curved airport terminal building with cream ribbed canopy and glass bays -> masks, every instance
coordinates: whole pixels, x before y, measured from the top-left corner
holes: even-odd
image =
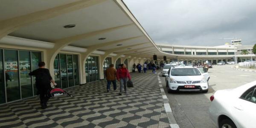
[[[122,0],[2,0],[0,104],[37,96],[29,72],[44,61],[58,87],[105,78],[110,64],[233,60],[236,47],[155,44]],[[17,6],[19,5],[19,6]],[[54,12],[54,13],[52,13]],[[251,55],[238,55],[250,58]],[[253,55],[253,59],[255,55]]]

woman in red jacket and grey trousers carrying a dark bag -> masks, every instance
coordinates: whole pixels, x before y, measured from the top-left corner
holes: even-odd
[[[125,64],[121,64],[121,68],[116,70],[116,79],[120,82],[120,92],[119,95],[122,95],[122,88],[125,87],[125,93],[127,93],[127,81],[131,80],[130,73],[126,68]]]

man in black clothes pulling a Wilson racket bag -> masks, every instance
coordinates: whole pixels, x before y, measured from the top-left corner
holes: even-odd
[[[49,97],[47,96],[47,91],[52,88],[51,82],[52,84],[57,85],[52,79],[49,70],[44,66],[44,62],[39,62],[39,68],[29,73],[29,76],[35,76],[35,86],[38,90],[37,94],[40,95],[40,103],[42,109],[47,108],[47,101],[49,100]]]

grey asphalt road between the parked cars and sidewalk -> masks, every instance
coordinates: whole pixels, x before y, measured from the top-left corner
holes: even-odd
[[[180,128],[216,128],[209,117],[209,97],[217,90],[235,88],[256,81],[256,73],[231,69],[232,65],[215,65],[208,70],[209,92],[167,93],[165,77],[160,76],[173,114]]]

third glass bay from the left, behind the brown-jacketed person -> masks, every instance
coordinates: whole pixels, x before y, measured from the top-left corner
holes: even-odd
[[[85,62],[86,82],[99,80],[99,57],[89,56]]]

